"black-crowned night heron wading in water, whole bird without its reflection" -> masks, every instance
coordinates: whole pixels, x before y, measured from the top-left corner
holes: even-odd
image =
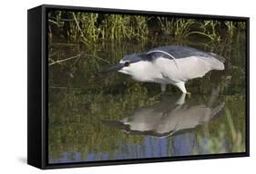
[[[187,93],[187,81],[203,77],[211,70],[224,70],[223,63],[224,58],[215,53],[172,45],[126,55],[104,73],[125,73],[138,82],[157,82],[161,84],[161,92],[166,91],[167,84],[173,84]]]

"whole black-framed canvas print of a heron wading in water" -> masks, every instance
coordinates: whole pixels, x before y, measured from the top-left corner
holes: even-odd
[[[249,156],[249,18],[28,10],[27,162]]]

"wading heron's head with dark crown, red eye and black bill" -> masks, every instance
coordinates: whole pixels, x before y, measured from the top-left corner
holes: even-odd
[[[119,72],[128,75],[138,73],[138,69],[141,63],[143,63],[143,57],[141,54],[130,54],[123,57],[118,64],[108,67],[103,73]]]

